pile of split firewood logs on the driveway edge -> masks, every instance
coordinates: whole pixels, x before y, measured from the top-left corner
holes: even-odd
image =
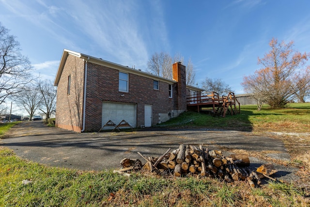
[[[245,180],[251,187],[261,184],[261,178],[270,177],[277,172],[272,164],[259,167],[256,171],[248,168],[247,155],[223,156],[221,151],[211,150],[194,145],[181,144],[178,149],[170,152],[170,148],[159,158],[146,158],[144,164],[139,159],[125,158],[121,160],[122,169],[115,172],[130,176],[131,171],[148,171],[158,175],[208,176],[225,181]],[[255,183],[254,183],[255,182]]]

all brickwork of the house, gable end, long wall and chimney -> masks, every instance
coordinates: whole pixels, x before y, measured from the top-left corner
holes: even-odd
[[[68,55],[58,84],[57,127],[78,132],[82,130],[84,67],[83,59]],[[178,64],[177,67],[179,68],[177,80],[182,81],[173,84],[173,98],[169,98],[169,83],[159,80],[159,90],[154,90],[153,80],[156,79],[142,77],[134,73],[128,73],[128,93],[119,92],[119,70],[88,62],[85,131],[98,131],[102,127],[103,101],[136,104],[137,127],[144,125],[145,104],[153,106],[153,125],[159,122],[160,113],[164,114],[175,110],[186,111],[185,66]],[[71,90],[70,95],[67,95],[69,75],[71,75]],[[183,103],[178,104],[179,101]]]

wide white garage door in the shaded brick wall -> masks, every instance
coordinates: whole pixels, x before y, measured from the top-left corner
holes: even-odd
[[[125,120],[131,127],[137,125],[136,104],[125,104],[115,102],[103,102],[102,104],[102,126],[109,120],[118,125]],[[105,129],[108,127],[105,127]],[[112,127],[110,127],[112,128]]]

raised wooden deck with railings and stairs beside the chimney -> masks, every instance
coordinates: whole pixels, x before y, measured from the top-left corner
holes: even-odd
[[[225,117],[226,113],[232,115],[240,113],[240,103],[233,92],[222,97],[217,92],[187,96],[186,104],[188,111],[208,111],[222,117]]]

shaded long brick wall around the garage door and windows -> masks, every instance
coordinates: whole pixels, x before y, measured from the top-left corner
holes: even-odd
[[[86,89],[87,131],[101,128],[103,101],[137,104],[137,127],[144,125],[144,105],[153,105],[153,125],[159,121],[159,113],[173,110],[173,100],[169,98],[169,83],[159,81],[159,90],[153,89],[153,79],[129,73],[129,90],[119,92],[119,70],[89,63]],[[121,96],[124,95],[124,96]],[[97,120],[94,122],[94,120]]]

